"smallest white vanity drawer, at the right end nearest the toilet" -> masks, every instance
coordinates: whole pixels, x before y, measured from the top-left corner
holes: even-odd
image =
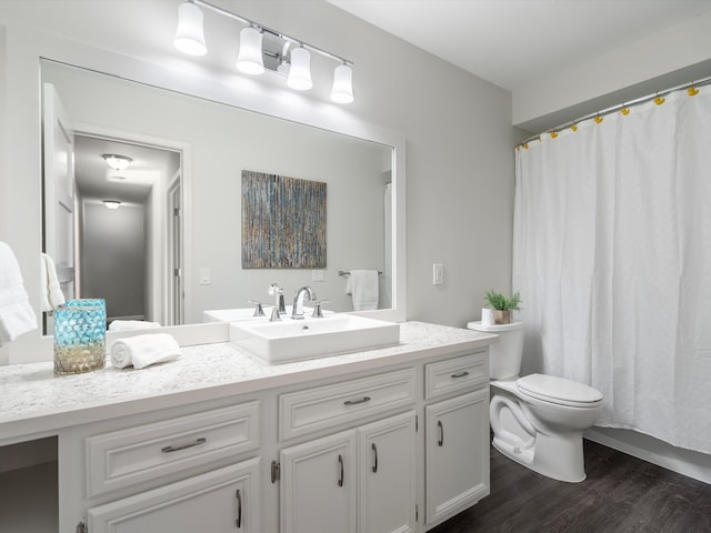
[[[428,400],[474,389],[488,382],[488,350],[430,363],[424,368],[424,394]]]

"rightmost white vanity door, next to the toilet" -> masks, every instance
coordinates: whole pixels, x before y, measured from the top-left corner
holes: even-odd
[[[425,409],[425,521],[439,523],[489,494],[489,389]]]

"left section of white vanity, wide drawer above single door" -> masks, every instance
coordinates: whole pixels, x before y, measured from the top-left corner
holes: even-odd
[[[259,420],[252,401],[77,429],[72,462],[83,459],[86,472],[73,483],[76,531],[261,533]]]

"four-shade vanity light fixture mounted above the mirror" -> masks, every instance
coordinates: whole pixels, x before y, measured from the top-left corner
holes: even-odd
[[[313,87],[311,52],[316,52],[339,63],[333,71],[331,100],[337,103],[351,103],[354,100],[352,61],[202,0],[188,0],[178,8],[178,30],[173,43],[181,52],[190,56],[204,56],[208,52],[200,7],[247,24],[240,31],[237,58],[237,68],[241,72],[261,74],[270,70],[286,74],[290,88],[307,91]],[[294,47],[289,51],[290,44]]]

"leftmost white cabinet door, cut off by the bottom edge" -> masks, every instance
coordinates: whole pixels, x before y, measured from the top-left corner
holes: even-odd
[[[91,533],[260,533],[259,459],[92,507]]]

